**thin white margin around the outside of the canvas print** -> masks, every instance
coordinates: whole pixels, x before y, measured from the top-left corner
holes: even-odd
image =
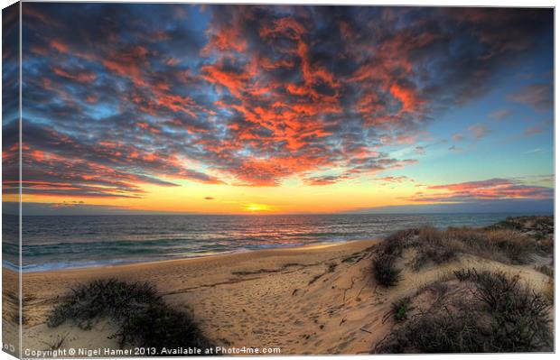
[[[59,1],[62,2],[62,1]],[[118,3],[129,3],[129,2],[135,2],[135,3],[157,3],[158,1],[113,1],[113,2],[118,2]],[[160,1],[161,2],[161,1]],[[13,0],[0,0],[0,3],[2,4],[2,8],[5,8],[8,5],[12,5],[14,4]],[[284,1],[270,1],[270,0],[261,0],[261,1],[231,1],[231,0],[221,0],[221,1],[216,1],[216,0],[208,0],[208,1],[203,1],[203,2],[190,2],[190,1],[165,1],[165,3],[217,3],[217,4],[319,4],[319,5],[327,5],[327,4],[331,4],[331,5],[442,5],[442,6],[546,6],[546,7],[550,7],[550,6],[555,6],[555,1],[543,1],[543,0],[533,0],[533,1],[527,1],[527,0],[509,0],[509,1],[496,1],[496,0],[491,0],[491,1],[481,1],[481,0],[471,0],[471,1],[455,1],[455,0],[447,0],[447,1],[441,1],[441,0],[432,0],[430,2],[426,2],[426,1],[422,1],[422,0],[406,0],[406,1],[359,1],[359,0],[350,0],[349,2],[345,2],[343,0],[339,0],[339,1],[332,1],[332,0],[322,0],[322,1],[313,1],[313,0],[307,0],[307,1],[302,1],[302,0],[284,0]],[[555,20],[556,20],[556,15],[555,15]],[[1,30],[0,30],[1,32]],[[555,49],[557,48],[558,45],[558,29],[555,26]],[[558,60],[555,57],[555,69],[558,69]],[[556,84],[556,81],[555,81]],[[0,84],[0,88],[1,88],[1,84]],[[0,98],[0,103],[1,103],[1,98]],[[558,94],[555,92],[555,104],[557,104],[558,102]],[[555,135],[558,134],[558,128],[555,126]],[[555,136],[556,138],[556,136]],[[2,137],[0,136],[0,147],[1,147],[1,142],[2,142]],[[555,165],[557,165],[557,151],[558,149],[555,148]],[[556,166],[555,166],[556,167]],[[0,175],[1,175],[1,170],[0,170]],[[557,196],[557,186],[555,183],[555,198]],[[555,207],[556,210],[556,207]],[[2,224],[2,218],[0,217],[0,226]],[[555,246],[555,257],[557,257],[558,255],[558,246]],[[0,284],[2,283],[2,280],[0,279]],[[557,289],[555,291],[555,299],[557,299]],[[558,315],[558,311],[557,308],[555,309],[555,318]],[[557,334],[555,334],[555,340],[557,340]],[[557,341],[555,342],[557,344]],[[392,358],[402,358],[402,357],[406,357],[406,356],[411,356],[411,355],[359,355],[360,357],[366,356],[366,357],[378,357],[378,356],[391,356]],[[458,360],[463,360],[463,359],[482,359],[482,358],[486,358],[486,357],[492,357],[494,359],[513,359],[513,360],[517,360],[517,359],[534,359],[536,357],[539,358],[553,358],[553,356],[555,355],[551,355],[551,354],[515,354],[515,355],[509,355],[509,354],[499,354],[499,355],[415,355],[415,357],[421,357],[421,358],[433,358],[435,357],[439,357],[439,358],[445,358],[448,356],[452,356],[453,359],[458,359]],[[303,358],[303,356],[291,356],[292,358]],[[310,356],[305,356],[305,357],[310,357]],[[328,356],[311,356],[313,358],[328,358]],[[352,357],[356,357],[356,356],[349,356],[349,355],[341,355],[341,356],[337,356],[337,358],[341,358],[341,359],[347,359],[347,358],[352,358]],[[230,358],[229,356],[226,357],[220,357],[220,358]],[[278,356],[270,356],[268,358],[278,358]],[[5,359],[14,359],[13,356],[11,355],[7,355],[4,352],[0,352],[0,360],[5,360]],[[122,359],[122,357],[121,357]]]

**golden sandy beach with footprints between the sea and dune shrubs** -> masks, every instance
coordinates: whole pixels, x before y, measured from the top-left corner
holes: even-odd
[[[23,274],[23,349],[117,348],[107,320],[90,330],[69,324],[48,328],[46,314],[72,286],[97,279],[151,282],[176,309],[190,311],[220,346],[278,347],[281,354],[366,354],[387,334],[391,302],[453,269],[471,267],[519,274],[540,289],[547,277],[532,266],[509,265],[464,254],[451,263],[404,270],[394,288],[370,276],[378,240],[259,250],[157,263]],[[403,256],[401,263],[409,262]],[[14,272],[4,270],[5,284]],[[6,288],[9,292],[9,288]],[[10,309],[5,309],[9,311]],[[5,326],[12,326],[6,324]]]

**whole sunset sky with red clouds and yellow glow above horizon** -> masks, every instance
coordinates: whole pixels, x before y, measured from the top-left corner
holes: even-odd
[[[552,9],[24,3],[23,211],[552,209],[553,51]]]

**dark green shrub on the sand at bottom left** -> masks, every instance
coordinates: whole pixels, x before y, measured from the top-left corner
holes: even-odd
[[[110,279],[79,285],[51,310],[47,325],[54,328],[70,321],[79,328],[90,329],[100,318],[117,325],[111,337],[118,339],[119,346],[211,346],[191,315],[170,308],[148,283]]]

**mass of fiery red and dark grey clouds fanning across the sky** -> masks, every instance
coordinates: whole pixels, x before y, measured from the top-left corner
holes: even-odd
[[[469,10],[462,18],[464,9],[425,8],[413,21],[404,8],[367,14],[364,7],[355,16],[340,7],[228,5],[207,7],[205,29],[183,17],[161,31],[154,24],[196,8],[155,6],[148,15],[133,6],[138,21],[113,26],[130,16],[124,7],[96,18],[97,5],[88,16],[78,5],[61,6],[68,11],[24,5],[34,10],[26,22],[33,31],[25,29],[29,57],[46,74],[26,77],[36,89],[28,108],[61,132],[37,135],[27,160],[53,183],[66,182],[57,171],[80,181],[96,180],[94,171],[109,176],[107,169],[132,177],[113,193],[134,193],[126,184],[135,177],[275,186],[295,176],[319,185],[415,163],[382,150],[407,144],[422,154],[415,134],[434,112],[483,93],[500,54],[513,59],[518,35],[546,25],[537,10]],[[49,18],[71,19],[79,31],[47,26]],[[545,107],[549,89],[509,99]],[[471,132],[481,137],[487,129]],[[76,162],[78,153],[87,162]],[[191,163],[208,173],[185,167]],[[321,175],[332,169],[340,174]],[[483,189],[528,192],[519,186]]]

